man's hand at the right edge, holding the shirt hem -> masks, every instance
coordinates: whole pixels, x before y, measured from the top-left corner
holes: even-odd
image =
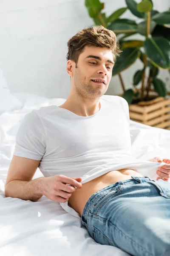
[[[167,163],[164,166],[161,166],[156,171],[157,175],[159,177],[156,178],[156,180],[162,179],[165,181],[168,181],[170,179],[170,159],[164,159],[162,157],[154,157],[153,159],[148,160],[150,162],[164,162]]]

